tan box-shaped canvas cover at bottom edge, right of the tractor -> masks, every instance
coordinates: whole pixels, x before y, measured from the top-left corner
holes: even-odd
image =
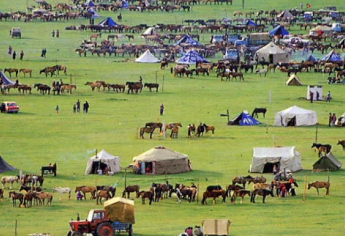
[[[229,235],[229,226],[231,222],[226,219],[206,219],[203,220],[204,235]]]

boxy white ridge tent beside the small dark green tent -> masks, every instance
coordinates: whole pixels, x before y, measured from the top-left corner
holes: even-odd
[[[278,171],[302,170],[301,154],[295,147],[253,148],[251,173],[272,173],[274,165]]]

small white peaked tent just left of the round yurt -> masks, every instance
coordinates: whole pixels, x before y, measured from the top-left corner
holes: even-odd
[[[85,174],[97,174],[97,170],[104,171],[105,167],[111,173],[120,172],[120,157],[113,156],[102,149],[87,161]]]

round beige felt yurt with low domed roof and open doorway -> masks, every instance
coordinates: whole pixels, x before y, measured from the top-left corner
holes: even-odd
[[[141,163],[141,174],[177,174],[189,172],[189,159],[172,149],[162,146],[151,148],[133,158],[133,171],[138,173],[138,163]]]

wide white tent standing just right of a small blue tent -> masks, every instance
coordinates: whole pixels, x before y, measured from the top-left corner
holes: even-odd
[[[290,121],[293,121],[291,123]],[[298,106],[293,106],[283,111],[277,112],[275,115],[274,125],[276,126],[302,126],[315,125],[317,116],[315,111],[306,110]]]

